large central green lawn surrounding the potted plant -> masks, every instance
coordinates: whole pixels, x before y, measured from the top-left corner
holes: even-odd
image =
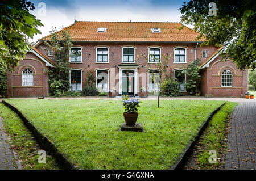
[[[146,132],[121,132],[122,101],[18,100],[32,124],[82,169],[168,169],[222,101],[143,100]]]

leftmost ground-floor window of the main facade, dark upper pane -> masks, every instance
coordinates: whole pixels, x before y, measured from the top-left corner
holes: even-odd
[[[71,91],[82,91],[82,70],[72,69],[70,71]]]

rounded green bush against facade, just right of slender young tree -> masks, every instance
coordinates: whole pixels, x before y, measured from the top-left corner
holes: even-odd
[[[164,79],[161,85],[161,96],[181,96],[180,83],[174,81],[172,78]]]

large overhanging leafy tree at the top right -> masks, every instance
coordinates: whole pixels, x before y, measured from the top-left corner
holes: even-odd
[[[210,2],[216,3],[217,11],[213,3],[209,6]],[[255,7],[253,0],[191,0],[180,8],[181,22],[192,25],[200,32],[200,37],[206,37],[203,45],[230,43],[223,55],[232,58],[237,68],[255,69]]]

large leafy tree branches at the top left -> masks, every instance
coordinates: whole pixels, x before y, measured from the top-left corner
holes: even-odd
[[[13,70],[19,60],[30,50],[27,37],[40,33],[40,20],[30,14],[33,3],[26,0],[1,0],[0,2],[0,66]]]

